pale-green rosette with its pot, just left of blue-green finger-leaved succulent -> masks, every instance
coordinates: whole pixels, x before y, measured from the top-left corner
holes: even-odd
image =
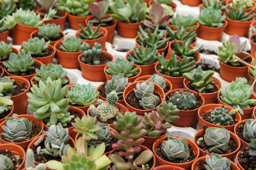
[[[76,36],[70,36],[62,42],[54,44],[58,63],[64,68],[79,68],[78,56],[83,53],[85,42]]]

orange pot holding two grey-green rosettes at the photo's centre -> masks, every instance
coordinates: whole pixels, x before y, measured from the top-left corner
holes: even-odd
[[[154,109],[148,109],[148,110],[136,109],[136,108],[132,107],[131,105],[129,105],[129,104],[127,103],[127,101],[125,100],[125,98],[127,97],[127,95],[128,95],[129,93],[131,93],[131,91],[132,91],[134,88],[136,88],[136,84],[137,84],[138,82],[150,82],[150,81],[137,81],[137,82],[132,82],[131,84],[129,84],[129,85],[124,89],[123,98],[124,98],[124,102],[125,102],[125,105],[126,105],[127,109],[128,109],[130,112],[135,111],[137,114],[141,114],[141,115],[144,115],[145,112],[156,111],[156,107],[155,107]],[[163,89],[162,89],[159,85],[157,85],[156,83],[154,83],[154,82],[151,82],[151,83],[154,84],[154,87],[155,87],[155,88],[154,88],[154,92],[156,92],[156,93],[160,96],[159,100],[161,101],[161,103],[160,103],[159,105],[157,105],[157,106],[161,106],[161,105],[163,104],[164,97],[165,97],[165,96],[164,96],[164,91],[163,91]]]

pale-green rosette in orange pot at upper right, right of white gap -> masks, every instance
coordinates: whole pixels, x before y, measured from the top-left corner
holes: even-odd
[[[198,36],[204,40],[221,40],[221,36],[227,27],[225,15],[221,15],[221,10],[215,10],[211,6],[200,12],[198,22]]]

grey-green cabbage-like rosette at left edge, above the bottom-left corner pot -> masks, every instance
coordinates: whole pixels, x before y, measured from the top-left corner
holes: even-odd
[[[28,141],[28,136],[31,134],[32,123],[26,118],[8,117],[6,125],[2,126],[4,140],[11,143],[20,143]]]

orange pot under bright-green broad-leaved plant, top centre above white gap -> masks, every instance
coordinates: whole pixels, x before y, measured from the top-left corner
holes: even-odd
[[[118,35],[125,38],[135,38],[137,32],[139,31],[139,26],[141,22],[136,23],[126,23],[126,22],[117,22]]]

